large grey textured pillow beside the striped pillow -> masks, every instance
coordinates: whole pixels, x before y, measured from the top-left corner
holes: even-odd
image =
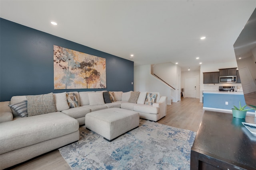
[[[56,112],[53,93],[26,96],[28,100],[28,116]]]

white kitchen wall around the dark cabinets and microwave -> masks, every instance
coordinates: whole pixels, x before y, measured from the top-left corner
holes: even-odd
[[[200,102],[202,102],[202,92],[203,91],[218,91],[219,86],[230,86],[228,83],[221,83],[221,84],[204,84],[203,83],[203,72],[217,72],[221,68],[236,68],[237,63],[236,60],[227,63],[214,63],[214,64],[203,64],[200,66]],[[240,83],[232,84],[232,86],[238,86],[238,89],[242,89]]]

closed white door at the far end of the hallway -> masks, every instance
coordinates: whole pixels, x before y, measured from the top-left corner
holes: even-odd
[[[186,98],[196,98],[196,78],[185,78],[185,96]]]

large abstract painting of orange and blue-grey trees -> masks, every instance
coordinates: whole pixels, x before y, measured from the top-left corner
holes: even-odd
[[[54,89],[106,88],[106,59],[54,45]]]

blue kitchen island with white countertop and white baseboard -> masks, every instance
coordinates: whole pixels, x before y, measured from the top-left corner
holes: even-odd
[[[243,92],[203,91],[204,110],[232,113],[231,109],[234,106],[239,107],[239,102],[241,102],[241,106],[246,105]],[[255,111],[249,110],[247,114],[255,116]]]

